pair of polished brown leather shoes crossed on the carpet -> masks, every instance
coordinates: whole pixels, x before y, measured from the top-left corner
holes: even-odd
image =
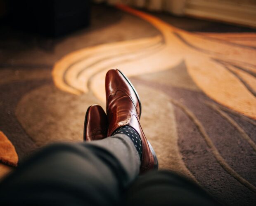
[[[109,70],[106,75],[106,110],[92,105],[85,115],[84,140],[100,140],[111,136],[121,126],[132,126],[142,141],[140,173],[158,169],[156,154],[140,126],[141,103],[137,91],[120,70]]]

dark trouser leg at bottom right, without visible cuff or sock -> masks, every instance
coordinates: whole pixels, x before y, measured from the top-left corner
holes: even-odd
[[[126,206],[220,205],[201,187],[170,171],[139,176],[124,192],[123,202]]]

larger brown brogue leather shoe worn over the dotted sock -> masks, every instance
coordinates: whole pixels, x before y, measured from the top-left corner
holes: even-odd
[[[105,83],[108,136],[121,126],[132,126],[139,133],[142,141],[140,173],[158,169],[156,154],[140,126],[141,103],[132,83],[117,69],[107,72]]]

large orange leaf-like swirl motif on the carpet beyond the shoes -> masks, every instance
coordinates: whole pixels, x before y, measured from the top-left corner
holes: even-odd
[[[185,61],[193,81],[207,96],[256,119],[256,34],[189,33],[144,12],[117,7],[151,23],[161,37],[101,44],[72,52],[55,64],[52,75],[57,87],[78,95],[91,90],[104,102],[107,70],[119,68],[131,77],[168,70]],[[248,41],[248,37],[253,38]]]

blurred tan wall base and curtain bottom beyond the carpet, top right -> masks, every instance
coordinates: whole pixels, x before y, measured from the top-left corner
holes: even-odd
[[[256,0],[94,0],[256,28]]]

